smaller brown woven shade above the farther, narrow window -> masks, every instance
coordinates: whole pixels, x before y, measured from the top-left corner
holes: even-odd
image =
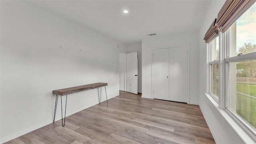
[[[214,38],[216,38],[218,36],[218,34],[219,34],[219,32],[218,32],[218,28],[216,27],[216,18],[215,18],[215,20],[212,22],[212,25],[207,30],[207,32],[204,36],[205,42],[210,43],[212,40],[214,40]]]

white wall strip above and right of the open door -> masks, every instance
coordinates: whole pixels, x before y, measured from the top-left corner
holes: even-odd
[[[142,43],[137,43],[137,44],[128,44],[127,46],[127,52],[138,52],[138,92],[141,92],[141,78],[142,78],[142,73],[141,73],[141,56],[142,56]]]

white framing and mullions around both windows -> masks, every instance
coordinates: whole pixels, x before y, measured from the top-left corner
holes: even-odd
[[[230,80],[229,64],[230,62],[241,62],[246,60],[256,60],[256,52],[242,54],[240,56],[229,57],[229,29],[224,33],[219,33],[219,60],[212,60],[212,42],[207,44],[207,93],[218,103],[219,108],[224,109],[235,122],[256,141],[256,131],[253,130],[242,118],[234,114],[229,108],[230,103]],[[219,100],[210,92],[211,74],[210,65],[219,64]]]

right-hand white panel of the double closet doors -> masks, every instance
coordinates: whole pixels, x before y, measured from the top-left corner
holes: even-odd
[[[169,100],[188,102],[187,47],[169,49]]]

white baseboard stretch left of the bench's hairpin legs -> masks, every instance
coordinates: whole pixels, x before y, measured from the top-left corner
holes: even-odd
[[[52,123],[52,120],[48,120],[47,122],[44,122],[44,123],[39,124],[37,126],[33,126],[32,128],[28,128],[28,129],[23,130],[21,132],[18,132],[16,134],[12,134],[10,136],[7,136],[6,138],[2,138],[0,140],[0,143],[2,144],[2,143],[5,143],[5,142],[8,142],[10,140],[13,140],[14,138],[18,138],[18,137],[20,137],[20,136],[22,136],[24,134],[27,134],[27,133],[32,132],[34,130],[37,130],[38,128],[42,128],[43,126],[46,126],[46,125],[51,124],[51,123]]]

